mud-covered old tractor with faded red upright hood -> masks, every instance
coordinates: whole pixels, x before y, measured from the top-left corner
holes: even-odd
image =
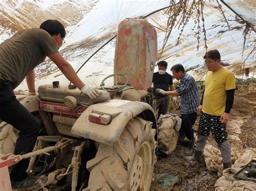
[[[113,86],[104,79],[97,98],[56,82],[39,86],[37,96],[17,96],[42,130],[33,152],[12,155],[18,132],[2,122],[0,168],[30,158],[27,172],[47,176],[38,188],[44,190],[149,190],[157,149],[170,154],[178,137],[173,117],[159,127],[147,91],[156,57],[154,27],[126,19],[118,27],[115,74],[108,76]]]

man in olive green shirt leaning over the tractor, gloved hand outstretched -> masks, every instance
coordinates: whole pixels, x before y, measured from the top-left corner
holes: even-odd
[[[46,20],[41,24],[40,29],[17,32],[0,44],[0,119],[20,131],[14,154],[25,154],[33,150],[41,126],[36,118],[17,101],[14,89],[26,77],[29,93],[36,94],[34,68],[42,63],[46,56],[82,93],[90,98],[98,96],[98,90],[93,86],[85,86],[69,62],[58,52],[65,34],[65,28],[60,22]],[[28,164],[29,160],[26,159],[12,168],[10,174],[12,186],[18,188],[24,185],[24,181],[28,183],[29,179],[26,178]]]

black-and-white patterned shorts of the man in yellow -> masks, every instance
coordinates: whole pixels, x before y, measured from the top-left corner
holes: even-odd
[[[201,112],[198,124],[198,135],[209,136],[212,132],[217,143],[227,141],[226,123],[220,123],[220,116],[209,115]]]

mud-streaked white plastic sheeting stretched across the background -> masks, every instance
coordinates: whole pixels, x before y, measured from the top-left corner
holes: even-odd
[[[227,1],[229,2],[229,1]],[[241,2],[241,1],[239,1]],[[250,1],[243,1],[242,8],[248,8],[247,12],[251,11],[253,15]],[[231,1],[235,3],[235,1]],[[102,44],[114,36],[117,32],[118,24],[125,18],[134,18],[144,16],[154,10],[164,8],[170,4],[169,1],[46,1],[46,0],[29,0],[29,1],[1,1],[0,6],[0,18],[15,19],[16,25],[20,23],[24,28],[28,28],[31,21],[31,26],[35,27],[35,23],[39,25],[46,19],[58,19],[64,22],[68,34],[65,38],[66,44],[62,47],[62,51],[65,58],[71,63],[71,65],[77,70],[89,56],[98,49]],[[32,6],[36,6],[37,9],[32,9]],[[28,7],[32,11],[37,11],[33,15],[28,13]],[[26,10],[26,11],[24,11]],[[244,37],[242,31],[245,24],[239,22],[240,20],[235,17],[234,13],[223,5],[225,16],[230,24],[231,30],[228,31],[227,24],[221,11],[218,9],[218,4],[215,1],[207,1],[204,9],[205,28],[207,35],[207,46],[210,49],[219,49],[222,60],[224,62],[239,65],[244,62],[246,55],[251,51],[252,47],[247,48],[244,56],[242,57],[242,45],[244,43]],[[7,11],[7,13],[5,13]],[[246,14],[248,14],[245,12]],[[156,26],[158,32],[158,48],[163,46],[163,40],[165,37],[166,22],[168,16],[164,11],[155,13],[147,18],[147,20],[154,26]],[[22,15],[24,14],[24,15]],[[27,14],[27,15],[26,15]],[[45,14],[45,15],[44,15]],[[27,22],[23,23],[25,19],[19,20],[19,17],[26,18]],[[255,17],[252,17],[255,18]],[[35,20],[36,19],[36,20]],[[35,21],[35,22],[34,22]],[[8,38],[14,31],[10,31],[8,27],[3,27],[3,23],[0,22],[0,42]],[[205,54],[203,35],[200,37],[200,48],[197,51],[197,27],[194,29],[194,19],[191,18],[187,26],[184,28],[183,36],[181,36],[180,44],[175,46],[177,38],[180,33],[180,29],[173,30],[171,37],[166,45],[165,52],[160,60],[166,59],[169,63],[167,72],[170,73],[172,65],[181,63],[185,68],[193,66],[203,66],[203,55]],[[250,45],[255,39],[255,33],[252,32],[249,40],[246,42],[246,46]],[[93,86],[99,86],[100,81],[105,76],[113,73],[113,58],[114,58],[114,44],[115,39],[110,44],[105,46],[99,51],[93,58],[86,63],[86,65],[78,73],[79,77],[86,83]],[[246,65],[248,67],[255,66],[255,58],[250,56]],[[47,71],[50,70],[50,73]],[[157,68],[155,68],[157,70]],[[42,63],[36,68],[37,77],[36,87],[40,84],[51,83],[52,81],[60,81],[61,84],[69,84],[65,76],[56,70],[56,66],[47,61]],[[192,70],[190,72],[196,77],[196,80],[203,79],[203,72]],[[109,81],[112,83],[112,81]],[[23,82],[18,89],[26,89],[26,83]]]

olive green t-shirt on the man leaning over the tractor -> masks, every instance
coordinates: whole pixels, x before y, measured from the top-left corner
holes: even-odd
[[[15,89],[47,55],[56,52],[58,49],[47,31],[19,31],[0,44],[0,79],[10,81]]]

